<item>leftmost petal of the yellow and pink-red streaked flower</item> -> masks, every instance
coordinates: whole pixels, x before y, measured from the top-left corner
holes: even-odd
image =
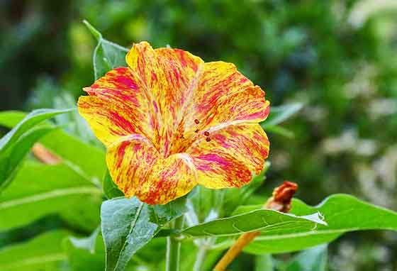
[[[156,134],[144,89],[128,68],[111,70],[84,90],[89,96],[79,98],[79,113],[106,146],[120,136]]]

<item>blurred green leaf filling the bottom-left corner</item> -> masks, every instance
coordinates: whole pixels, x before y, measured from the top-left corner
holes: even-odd
[[[1,271],[59,271],[67,255],[62,250],[62,240],[67,231],[44,233],[25,243],[0,250]]]

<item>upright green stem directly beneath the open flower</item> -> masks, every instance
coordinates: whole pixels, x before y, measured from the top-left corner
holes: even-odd
[[[176,230],[184,226],[184,216],[172,221],[171,228]],[[165,259],[165,271],[179,271],[179,253],[181,250],[181,242],[174,236],[167,237],[167,255]]]

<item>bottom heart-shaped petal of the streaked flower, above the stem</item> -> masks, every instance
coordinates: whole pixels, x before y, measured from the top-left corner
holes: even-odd
[[[113,182],[125,197],[166,204],[196,185],[196,171],[186,154],[160,157],[147,138],[126,136],[108,148],[106,162]]]

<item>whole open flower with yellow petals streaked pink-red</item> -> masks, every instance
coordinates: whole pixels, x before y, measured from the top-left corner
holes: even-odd
[[[197,184],[241,187],[262,170],[269,101],[235,65],[146,42],[125,60],[78,102],[125,197],[166,204]]]

